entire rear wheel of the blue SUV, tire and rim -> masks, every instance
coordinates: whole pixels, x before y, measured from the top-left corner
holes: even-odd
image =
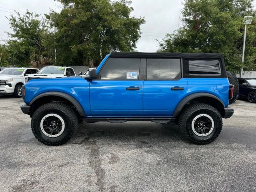
[[[185,108],[178,120],[182,135],[194,144],[214,141],[222,130],[222,118],[216,108],[208,104],[194,104]]]

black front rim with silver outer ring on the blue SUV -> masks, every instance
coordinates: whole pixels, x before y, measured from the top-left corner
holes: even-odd
[[[64,132],[65,122],[61,116],[50,113],[42,118],[40,128],[46,136],[58,137]]]

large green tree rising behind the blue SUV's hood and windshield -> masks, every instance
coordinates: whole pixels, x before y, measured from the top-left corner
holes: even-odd
[[[59,64],[97,66],[110,52],[129,52],[136,48],[140,25],[145,20],[130,16],[133,10],[130,1],[58,1],[63,4],[63,10],[46,16],[58,29],[55,43],[45,42],[45,46],[56,47]]]

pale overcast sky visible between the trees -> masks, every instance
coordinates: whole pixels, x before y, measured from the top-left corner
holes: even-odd
[[[132,0],[132,16],[144,16],[146,20],[141,26],[142,36],[137,43],[138,51],[156,52],[158,43],[155,39],[161,40],[166,33],[178,28],[182,2],[184,0]],[[54,0],[0,0],[0,42],[7,39],[5,32],[11,31],[5,16],[8,17],[14,10],[22,14],[27,9],[43,15],[50,9],[61,10],[61,4]]]

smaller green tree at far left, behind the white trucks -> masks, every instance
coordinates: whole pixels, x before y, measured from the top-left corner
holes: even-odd
[[[27,11],[24,15],[16,12],[18,16],[11,15],[7,18],[12,33],[8,33],[7,40],[8,62],[10,65],[35,67],[40,65],[41,56],[47,55],[42,46],[42,39],[48,30],[48,26],[39,15]]]

